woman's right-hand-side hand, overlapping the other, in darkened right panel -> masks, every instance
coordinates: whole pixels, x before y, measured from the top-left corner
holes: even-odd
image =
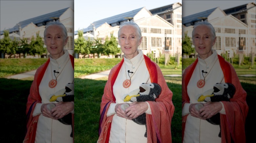
[[[200,116],[204,119],[209,119],[213,115],[219,113],[222,109],[222,104],[220,102],[207,102],[199,110]]]

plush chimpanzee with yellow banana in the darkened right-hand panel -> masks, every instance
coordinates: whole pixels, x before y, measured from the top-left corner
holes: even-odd
[[[213,86],[213,89],[209,89],[205,91],[203,94],[199,94],[197,96],[198,102],[220,102],[220,101],[229,101],[230,98],[234,96],[236,92],[236,88],[231,83],[216,83]],[[197,104],[196,109],[199,110],[203,107],[203,104]],[[213,125],[220,125],[220,113],[212,116],[209,119],[206,119],[209,123]],[[221,127],[221,125],[220,125]],[[221,137],[221,131],[219,133],[219,137]]]

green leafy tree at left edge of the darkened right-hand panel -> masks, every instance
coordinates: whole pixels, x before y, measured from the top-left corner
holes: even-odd
[[[185,32],[185,37],[182,38],[182,56],[183,55],[191,55],[195,52],[195,49],[192,48],[192,42],[190,37],[187,36],[187,32]]]

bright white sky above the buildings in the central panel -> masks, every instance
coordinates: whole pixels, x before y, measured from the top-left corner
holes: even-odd
[[[148,10],[170,5],[181,0],[75,0],[75,31],[91,23],[145,7]]]

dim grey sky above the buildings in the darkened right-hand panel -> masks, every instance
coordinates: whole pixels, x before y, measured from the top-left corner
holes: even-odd
[[[228,9],[254,2],[255,0],[182,0],[182,17],[220,7]]]

